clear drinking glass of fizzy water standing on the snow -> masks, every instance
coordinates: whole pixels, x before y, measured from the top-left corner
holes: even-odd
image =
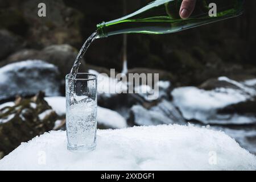
[[[66,76],[66,130],[68,150],[86,152],[96,148],[97,76],[77,73]]]

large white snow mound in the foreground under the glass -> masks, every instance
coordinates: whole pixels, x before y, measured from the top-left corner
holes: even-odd
[[[255,170],[256,157],[228,135],[203,127],[160,125],[98,130],[96,150],[67,150],[65,131],[22,143],[0,170]]]

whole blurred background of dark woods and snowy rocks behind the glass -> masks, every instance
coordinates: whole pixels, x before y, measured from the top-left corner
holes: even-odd
[[[38,16],[40,2],[46,17]],[[148,2],[0,0],[0,159],[20,142],[65,130],[64,78],[82,44],[96,24]],[[98,127],[191,123],[224,131],[256,154],[255,11],[247,0],[238,18],[175,34],[131,34],[127,42],[123,35],[96,40],[80,72],[160,76],[155,101],[99,95]]]

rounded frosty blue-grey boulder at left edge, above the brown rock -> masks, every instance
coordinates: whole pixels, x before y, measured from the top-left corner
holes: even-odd
[[[27,60],[0,68],[0,100],[31,96],[40,90],[47,96],[60,95],[59,71],[41,60]]]

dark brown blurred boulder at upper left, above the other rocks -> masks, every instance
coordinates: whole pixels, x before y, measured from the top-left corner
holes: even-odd
[[[46,17],[39,17],[38,4],[44,2]],[[14,6],[15,7],[15,6]],[[82,44],[80,24],[83,15],[80,11],[67,7],[62,0],[24,1],[18,7],[28,24],[26,39],[32,47],[46,47],[52,44]]]

